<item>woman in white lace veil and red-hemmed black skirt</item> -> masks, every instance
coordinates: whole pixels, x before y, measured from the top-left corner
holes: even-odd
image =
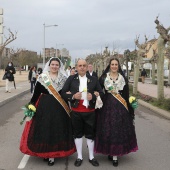
[[[39,75],[30,101],[36,113],[26,122],[20,142],[21,152],[42,157],[49,166],[54,165],[54,158],[75,152],[70,110],[60,96],[67,79],[61,64],[51,58]]]

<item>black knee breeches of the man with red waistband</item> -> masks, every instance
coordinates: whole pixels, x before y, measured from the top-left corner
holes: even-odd
[[[95,112],[71,112],[71,121],[73,126],[74,138],[82,138],[85,136],[88,139],[94,139],[96,116]]]

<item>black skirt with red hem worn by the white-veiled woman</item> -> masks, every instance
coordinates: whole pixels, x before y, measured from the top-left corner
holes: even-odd
[[[75,152],[71,119],[52,95],[42,95],[33,119],[26,123],[20,150],[44,158]]]

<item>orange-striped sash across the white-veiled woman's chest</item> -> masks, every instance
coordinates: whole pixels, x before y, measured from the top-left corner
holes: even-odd
[[[57,99],[57,101],[63,106],[63,108],[65,109],[65,111],[70,117],[70,112],[71,112],[70,108],[68,107],[66,102],[61,98],[60,94],[55,90],[55,88],[53,87],[53,85],[51,84],[49,80],[49,77],[44,73],[42,73],[41,76],[47,88],[50,90],[52,95]]]

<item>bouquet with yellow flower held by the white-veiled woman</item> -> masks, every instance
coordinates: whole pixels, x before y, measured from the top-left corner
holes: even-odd
[[[22,107],[22,109],[24,110],[24,118],[22,119],[22,121],[20,122],[20,125],[22,125],[25,121],[25,119],[27,117],[29,117],[30,119],[32,119],[32,117],[34,116],[35,112],[36,112],[36,108],[34,105],[32,104],[26,104],[24,107]]]

